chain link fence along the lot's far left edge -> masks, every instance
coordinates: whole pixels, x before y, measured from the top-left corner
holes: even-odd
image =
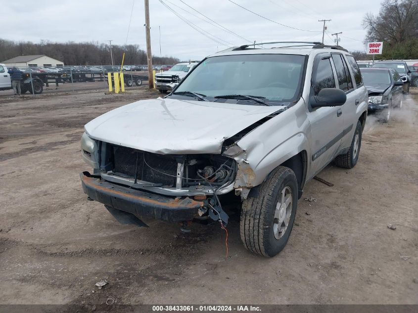
[[[157,68],[157,70],[161,70]],[[79,93],[108,90],[107,73],[124,74],[125,87],[145,88],[146,65],[13,66],[0,64],[0,97],[43,93]],[[20,90],[19,90],[20,89]],[[20,92],[19,92],[20,91]]]

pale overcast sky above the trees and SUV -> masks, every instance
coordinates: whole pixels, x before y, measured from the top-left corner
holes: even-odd
[[[331,34],[342,32],[340,45],[364,50],[362,19],[366,12],[377,13],[380,1],[149,0],[152,53],[159,54],[159,26],[162,55],[198,60],[228,46],[253,41],[322,41],[319,19],[332,20],[327,22],[325,44],[333,44],[335,36]],[[0,38],[33,42],[113,40],[114,44],[145,48],[143,0],[19,0],[4,1],[1,7]]]

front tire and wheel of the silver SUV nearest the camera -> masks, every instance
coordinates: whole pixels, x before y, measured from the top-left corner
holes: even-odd
[[[279,166],[259,188],[256,196],[242,203],[241,240],[249,251],[274,257],[286,245],[295,220],[296,176],[291,169]]]

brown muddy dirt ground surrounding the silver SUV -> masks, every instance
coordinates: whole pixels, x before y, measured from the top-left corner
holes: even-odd
[[[271,259],[245,250],[238,216],[226,259],[218,223],[186,235],[177,224],[121,225],[87,200],[84,124],[156,96],[0,99],[0,303],[418,303],[418,89],[388,124],[369,116],[357,166],[320,173],[333,187],[308,183],[290,240]]]

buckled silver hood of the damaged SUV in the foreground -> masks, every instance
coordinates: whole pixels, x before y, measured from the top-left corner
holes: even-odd
[[[282,108],[157,98],[107,112],[85,130],[94,139],[148,152],[221,153],[225,139]]]

